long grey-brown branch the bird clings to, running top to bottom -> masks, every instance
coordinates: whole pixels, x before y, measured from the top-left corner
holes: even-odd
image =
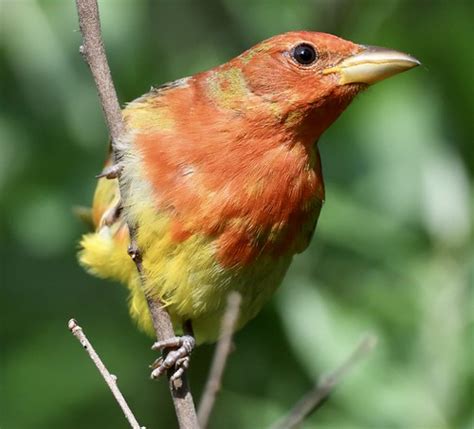
[[[82,33],[83,44],[80,52],[86,63],[91,69],[92,76],[97,87],[102,109],[104,111],[105,120],[109,129],[112,140],[112,154],[116,165],[119,165],[122,159],[122,152],[119,143],[124,136],[125,126],[122,120],[122,113],[117,99],[117,94],[110,74],[105,49],[102,42],[100,30],[100,18],[97,0],[75,0],[77,12],[79,16],[79,27]],[[120,170],[118,170],[120,171]],[[118,177],[120,195],[126,200],[127,187]],[[124,198],[125,197],[125,198]],[[135,231],[137,225],[128,225],[130,230],[131,252],[137,265],[140,278],[145,280],[145,274],[141,269],[140,251],[136,246]],[[150,315],[155,328],[158,340],[166,339],[174,336],[173,326],[166,310],[162,308],[160,303],[148,300]],[[197,428],[197,416],[194,407],[193,398],[187,378],[183,376],[177,380],[180,385],[170,384],[171,396],[173,398],[176,416],[181,428]]]

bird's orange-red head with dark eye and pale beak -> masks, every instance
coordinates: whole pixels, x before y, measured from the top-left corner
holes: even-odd
[[[291,32],[221,66],[218,94],[227,106],[267,109],[280,123],[316,139],[361,90],[419,64],[402,52],[331,34]]]

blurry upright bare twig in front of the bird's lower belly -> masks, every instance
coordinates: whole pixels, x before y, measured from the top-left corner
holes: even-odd
[[[211,370],[207,378],[206,387],[202,394],[198,409],[198,420],[201,429],[205,429],[209,422],[217,393],[221,388],[222,375],[232,346],[232,334],[239,318],[240,302],[242,297],[238,292],[231,292],[227,298],[227,308],[222,318],[221,334],[216,346]]]

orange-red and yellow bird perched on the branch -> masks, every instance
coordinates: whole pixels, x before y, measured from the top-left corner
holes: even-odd
[[[94,230],[78,258],[128,287],[142,330],[154,332],[147,300],[168,311],[182,335],[155,344],[169,354],[152,377],[182,373],[196,344],[217,340],[231,291],[242,299],[236,330],[257,315],[316,229],[321,135],[370,85],[418,65],[399,51],[294,31],[124,107],[123,156],[99,175]]]

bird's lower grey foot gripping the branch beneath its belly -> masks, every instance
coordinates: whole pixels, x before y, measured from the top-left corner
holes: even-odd
[[[151,347],[152,350],[161,350],[163,356],[159,357],[151,368],[151,378],[156,379],[169,369],[175,371],[170,377],[171,381],[179,379],[189,368],[191,352],[196,345],[196,340],[192,335],[183,335],[181,337],[172,337],[163,341],[158,341]]]

